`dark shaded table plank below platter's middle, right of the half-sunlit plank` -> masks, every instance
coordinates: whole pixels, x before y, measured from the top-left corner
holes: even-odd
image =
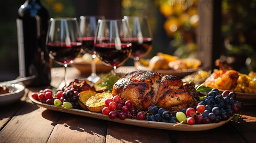
[[[106,143],[170,143],[166,130],[108,123]]]

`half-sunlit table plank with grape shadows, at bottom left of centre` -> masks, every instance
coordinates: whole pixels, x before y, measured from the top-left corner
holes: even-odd
[[[62,113],[48,143],[104,143],[107,121]]]

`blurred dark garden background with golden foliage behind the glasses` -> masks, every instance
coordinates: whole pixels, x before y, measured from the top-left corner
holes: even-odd
[[[25,0],[1,2],[0,81],[13,80],[19,75],[16,18],[17,10],[24,2]],[[154,42],[153,49],[144,58],[151,58],[157,52],[182,58],[198,57],[197,40],[198,28],[200,28],[198,23],[200,20],[209,20],[200,17],[199,13],[204,12],[200,6],[206,4],[201,5],[201,2],[198,0],[41,0],[50,17],[148,16]],[[256,71],[256,0],[222,0],[220,7],[221,9],[216,9],[218,6],[212,8],[221,14],[217,17],[221,33],[217,38],[221,43],[217,46],[218,52],[214,52],[213,49],[212,54],[239,72],[247,74],[251,70]],[[128,60],[125,65],[133,65],[133,60]],[[58,65],[53,64],[53,66]]]

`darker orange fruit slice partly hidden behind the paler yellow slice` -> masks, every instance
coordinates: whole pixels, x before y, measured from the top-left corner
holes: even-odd
[[[93,95],[97,94],[97,92],[93,90],[87,90],[87,91],[82,91],[78,94],[78,103],[79,105],[84,109],[89,111],[89,109],[85,106],[86,101],[92,97]]]

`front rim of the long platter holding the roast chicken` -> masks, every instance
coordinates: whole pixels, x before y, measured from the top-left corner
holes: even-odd
[[[89,112],[79,109],[67,109],[67,108],[61,108],[54,105],[48,105],[45,103],[41,103],[38,100],[35,100],[29,95],[30,100],[32,102],[36,103],[40,107],[44,107],[49,110],[54,110],[58,112],[64,112],[64,113],[70,113],[70,114],[76,114],[80,116],[86,116],[86,117],[93,117],[101,120],[108,120],[112,122],[117,123],[123,123],[133,126],[142,126],[146,128],[155,128],[155,129],[167,129],[167,130],[175,130],[175,131],[205,131],[209,129],[218,128],[220,126],[223,126],[224,124],[228,123],[232,117],[230,117],[228,120],[221,121],[220,123],[208,123],[208,124],[200,124],[200,125],[188,125],[188,124],[180,124],[178,126],[175,126],[175,123],[163,123],[163,122],[153,122],[153,121],[145,121],[145,120],[135,120],[135,119],[125,119],[120,120],[119,118],[116,118],[114,120],[111,120],[108,118],[108,116],[102,114],[102,113],[96,113],[96,112]]]

